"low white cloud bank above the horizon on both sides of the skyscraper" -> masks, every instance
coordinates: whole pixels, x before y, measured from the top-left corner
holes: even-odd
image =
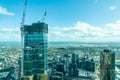
[[[19,28],[0,28],[0,41],[20,41]],[[49,26],[49,41],[120,41],[120,20],[104,27],[78,21],[73,26]]]

